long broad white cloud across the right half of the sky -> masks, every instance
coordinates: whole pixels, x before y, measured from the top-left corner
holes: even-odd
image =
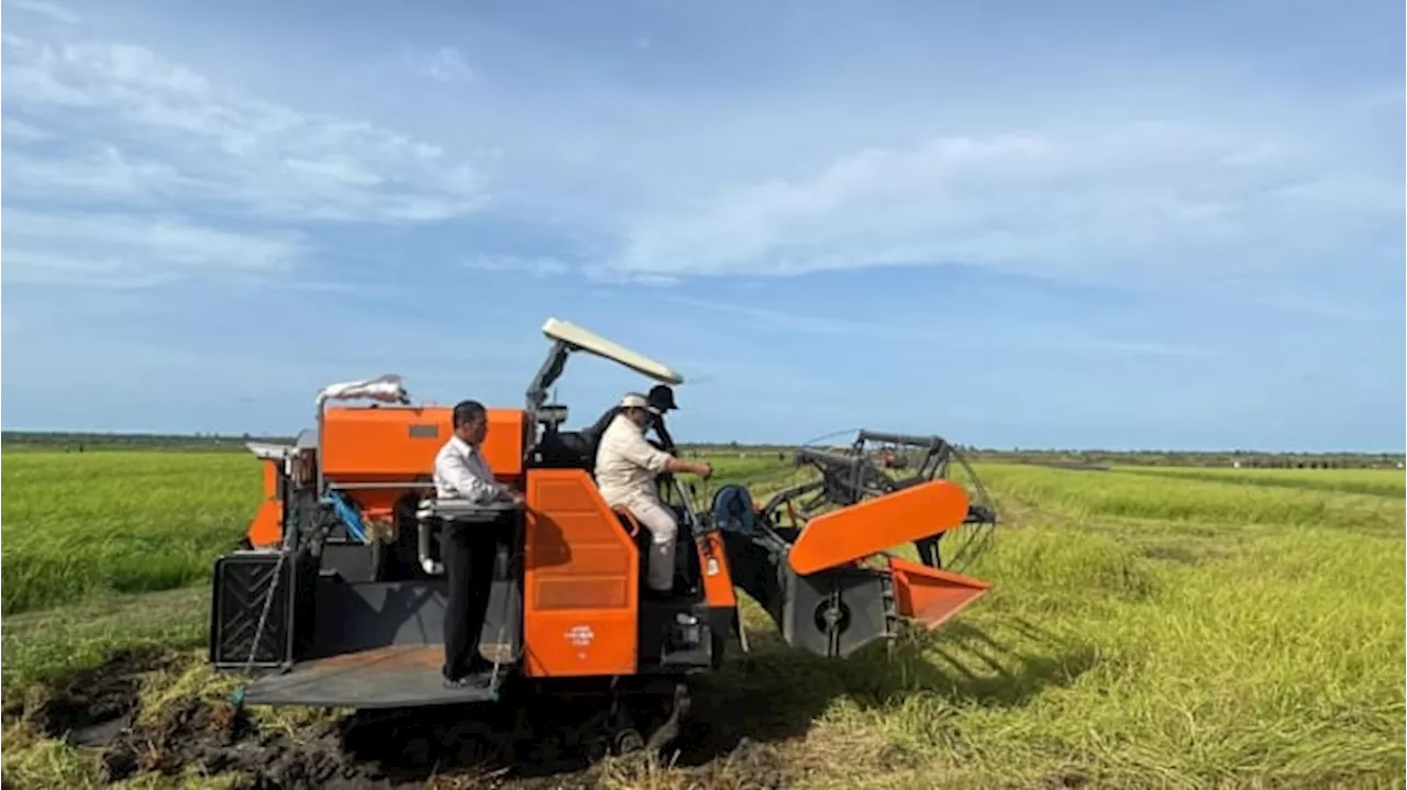
[[[1269,135],[1130,124],[844,156],[630,221],[609,268],[787,276],[960,263],[1090,280],[1318,266],[1407,191]]]

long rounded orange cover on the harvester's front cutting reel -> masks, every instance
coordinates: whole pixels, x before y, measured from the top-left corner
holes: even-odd
[[[967,491],[946,479],[865,499],[812,519],[791,550],[798,574],[862,559],[893,545],[936,536],[968,514]]]

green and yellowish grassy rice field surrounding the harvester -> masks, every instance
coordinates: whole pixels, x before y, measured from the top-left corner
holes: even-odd
[[[775,461],[716,461],[777,488]],[[736,725],[792,786],[1382,786],[1407,776],[1407,472],[982,465],[995,590],[931,634],[832,662],[747,609]],[[0,786],[73,787],[93,758],[23,700],[131,644],[191,651],[212,558],[259,498],[239,454],[0,455]],[[163,696],[165,694],[165,696]],[[633,770],[633,772],[632,772]],[[145,776],[145,775],[144,775]],[[715,766],[604,786],[741,787]],[[155,777],[144,782],[158,786]],[[692,783],[692,784],[691,784]],[[145,784],[144,784],[145,786]]]

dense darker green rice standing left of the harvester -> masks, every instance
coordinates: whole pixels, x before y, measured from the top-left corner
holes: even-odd
[[[210,576],[259,506],[241,454],[0,455],[0,614]]]

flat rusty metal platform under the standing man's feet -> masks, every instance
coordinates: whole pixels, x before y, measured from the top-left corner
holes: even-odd
[[[446,689],[440,675],[445,648],[402,645],[369,649],[298,663],[272,673],[245,690],[245,701],[266,706],[391,708],[485,701],[484,685]]]

